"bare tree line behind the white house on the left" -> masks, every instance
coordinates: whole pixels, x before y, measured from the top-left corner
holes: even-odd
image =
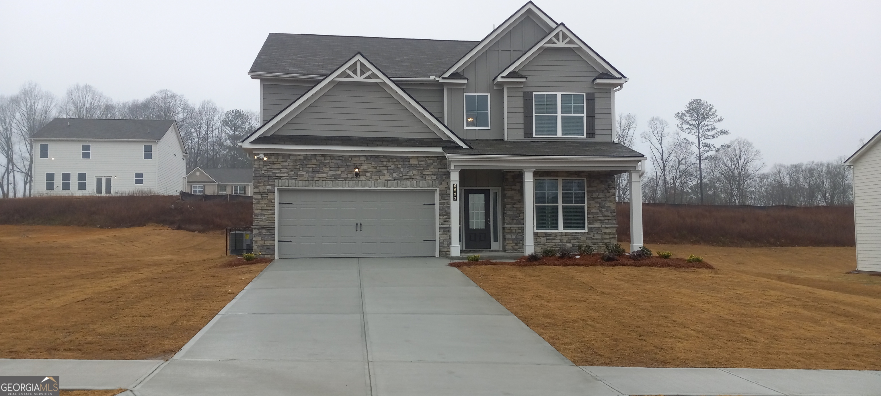
[[[73,84],[59,98],[29,82],[0,95],[0,194],[33,194],[33,145],[28,140],[56,117],[174,120],[186,146],[187,168],[248,168],[238,142],[259,126],[253,111],[224,111],[211,100],[192,103],[180,93],[159,90],[144,99],[116,101],[89,84]]]

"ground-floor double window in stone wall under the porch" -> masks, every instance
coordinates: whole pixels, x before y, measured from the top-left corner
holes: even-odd
[[[585,231],[584,179],[536,179],[536,230]]]

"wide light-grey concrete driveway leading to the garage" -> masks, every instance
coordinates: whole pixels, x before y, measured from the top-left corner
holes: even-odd
[[[137,395],[618,395],[442,259],[275,260]]]

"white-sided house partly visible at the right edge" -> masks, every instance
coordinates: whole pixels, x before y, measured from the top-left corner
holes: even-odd
[[[844,165],[854,171],[856,269],[881,272],[881,131]]]

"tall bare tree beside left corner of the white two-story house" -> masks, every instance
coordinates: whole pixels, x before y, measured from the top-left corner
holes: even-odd
[[[29,139],[56,116],[56,105],[55,95],[43,91],[33,81],[24,84],[12,100],[16,111],[13,125],[25,147],[19,172],[22,173],[23,192],[28,195],[33,194],[33,144]]]

